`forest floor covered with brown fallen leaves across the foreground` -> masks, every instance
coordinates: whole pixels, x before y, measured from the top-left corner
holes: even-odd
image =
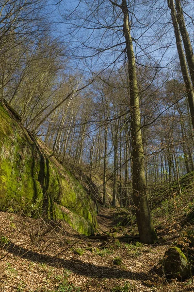
[[[162,271],[165,251],[180,237],[175,221],[158,219],[160,243],[146,245],[115,239],[137,233],[119,226],[125,216],[124,209],[101,208],[98,230],[110,237],[102,241],[62,221],[0,212],[0,292],[194,291],[191,278],[167,281]]]

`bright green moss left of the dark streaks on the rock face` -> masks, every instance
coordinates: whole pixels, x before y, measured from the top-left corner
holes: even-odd
[[[34,201],[35,193],[41,197],[41,186],[34,175],[38,165],[32,164],[32,150],[20,134],[14,129],[1,144],[0,209],[3,211],[12,208],[17,212],[26,206],[25,212]]]

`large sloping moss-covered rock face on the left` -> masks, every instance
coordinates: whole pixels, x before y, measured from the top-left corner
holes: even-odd
[[[0,104],[0,211],[65,219],[90,235],[96,203],[81,184]]]

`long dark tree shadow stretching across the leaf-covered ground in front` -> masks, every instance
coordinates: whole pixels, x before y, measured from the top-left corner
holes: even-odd
[[[129,272],[120,270],[118,268],[106,267],[106,266],[97,266],[91,263],[84,263],[81,260],[69,260],[63,259],[57,256],[48,256],[44,254],[39,254],[37,252],[29,251],[24,249],[14,243],[10,243],[9,246],[6,247],[6,251],[14,254],[15,256],[20,256],[21,258],[28,259],[33,262],[45,263],[49,266],[60,265],[65,269],[71,270],[76,274],[80,274],[82,276],[93,277],[93,278],[124,278],[124,279],[136,279],[141,280],[142,283],[151,277],[149,272],[147,273],[138,273],[138,272]]]

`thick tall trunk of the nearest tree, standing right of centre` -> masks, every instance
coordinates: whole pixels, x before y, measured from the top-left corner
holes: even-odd
[[[140,240],[149,244],[157,240],[157,235],[154,229],[147,200],[144,150],[141,136],[139,92],[137,86],[135,56],[133,52],[132,38],[130,35],[127,0],[122,0],[121,9],[124,16],[123,30],[129,63],[133,200],[136,206],[136,218]]]

